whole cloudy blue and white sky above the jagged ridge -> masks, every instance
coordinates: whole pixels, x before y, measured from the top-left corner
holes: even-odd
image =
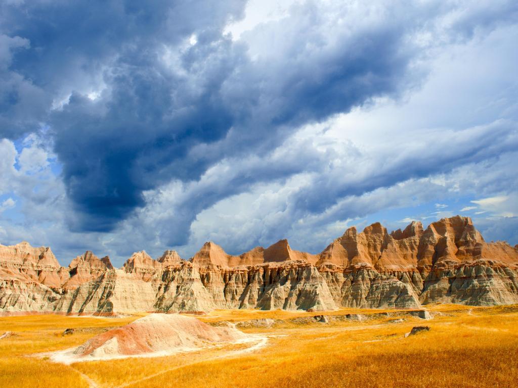
[[[0,243],[189,258],[469,216],[518,244],[515,1],[5,0]]]

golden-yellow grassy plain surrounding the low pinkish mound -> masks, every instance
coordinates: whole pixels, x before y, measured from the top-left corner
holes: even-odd
[[[53,363],[35,356],[83,344],[127,318],[57,315],[0,318],[0,386],[8,387],[510,387],[518,380],[518,306],[430,307],[431,320],[406,311],[341,309],[328,323],[311,312],[217,310],[210,324],[273,318],[241,330],[266,345],[229,345],[165,357]],[[319,312],[318,314],[322,314]],[[362,314],[362,321],[340,319]],[[355,317],[355,316],[353,316]],[[405,338],[413,326],[430,331]],[[63,336],[67,328],[75,329]]]

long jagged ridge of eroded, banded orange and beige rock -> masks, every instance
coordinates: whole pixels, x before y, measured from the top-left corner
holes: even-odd
[[[319,255],[286,240],[228,255],[208,242],[190,260],[136,252],[122,268],[87,251],[63,267],[50,248],[0,245],[0,313],[115,315],[213,309],[419,308],[518,303],[518,247],[486,243],[470,218],[392,233],[349,228]],[[119,340],[118,340],[119,341]]]

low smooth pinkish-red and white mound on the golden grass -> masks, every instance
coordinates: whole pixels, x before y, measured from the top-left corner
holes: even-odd
[[[54,352],[50,357],[53,361],[69,364],[128,356],[160,356],[249,340],[251,336],[234,327],[213,327],[196,318],[177,314],[151,314],[99,334],[78,348]]]

